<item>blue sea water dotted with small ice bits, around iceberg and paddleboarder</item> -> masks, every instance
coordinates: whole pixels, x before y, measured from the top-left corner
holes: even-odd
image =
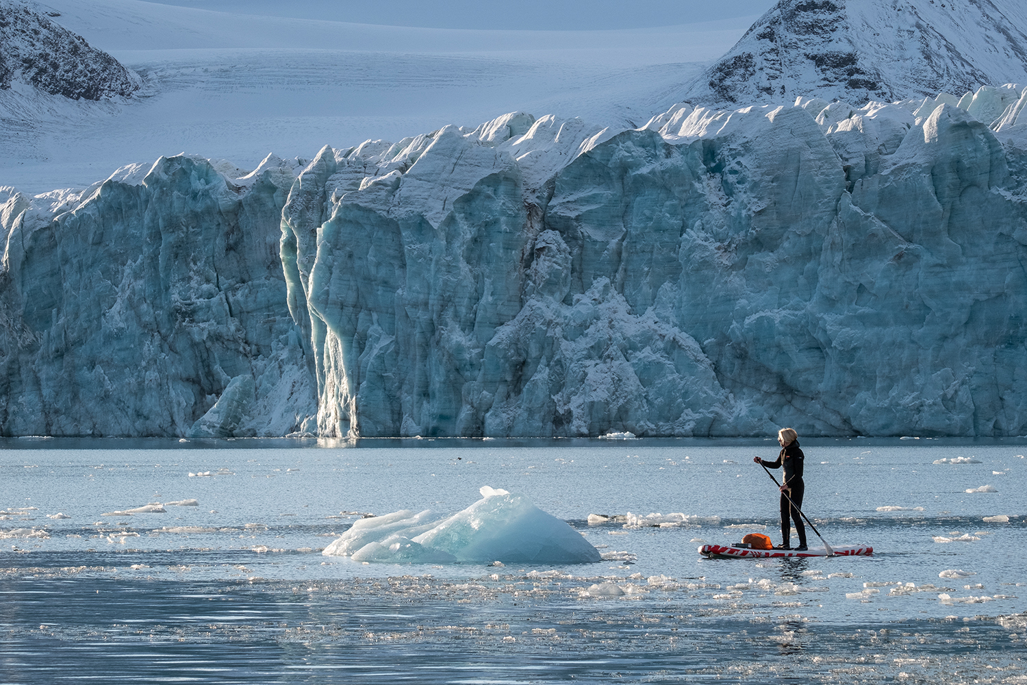
[[[696,548],[777,541],[752,463],[772,440],[0,447],[2,683],[1027,682],[1023,440],[803,441],[803,509],[875,554],[759,562]],[[486,485],[604,561],[320,554],[362,516],[452,513]]]

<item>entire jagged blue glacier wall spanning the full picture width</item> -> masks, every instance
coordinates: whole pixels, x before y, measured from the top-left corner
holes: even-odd
[[[514,113],[9,194],[0,425],[1023,434],[1022,96]]]

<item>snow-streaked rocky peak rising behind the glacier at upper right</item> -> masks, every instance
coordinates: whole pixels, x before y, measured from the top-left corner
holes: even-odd
[[[961,96],[1027,81],[1025,32],[1019,0],[781,0],[679,98],[724,106]]]

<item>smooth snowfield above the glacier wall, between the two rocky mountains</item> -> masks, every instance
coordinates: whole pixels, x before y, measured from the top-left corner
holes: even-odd
[[[303,5],[304,3],[294,3]],[[254,168],[268,153],[397,140],[514,110],[638,125],[752,17],[606,31],[369,26],[174,7],[49,0],[40,8],[143,75],[128,104],[0,102],[0,185],[84,188],[180,152]],[[676,20],[680,22],[681,20]]]

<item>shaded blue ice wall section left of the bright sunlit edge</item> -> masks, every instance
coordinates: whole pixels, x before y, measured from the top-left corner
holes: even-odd
[[[82,193],[0,196],[3,433],[312,429],[278,257],[292,180],[268,167],[234,185],[180,156]]]

